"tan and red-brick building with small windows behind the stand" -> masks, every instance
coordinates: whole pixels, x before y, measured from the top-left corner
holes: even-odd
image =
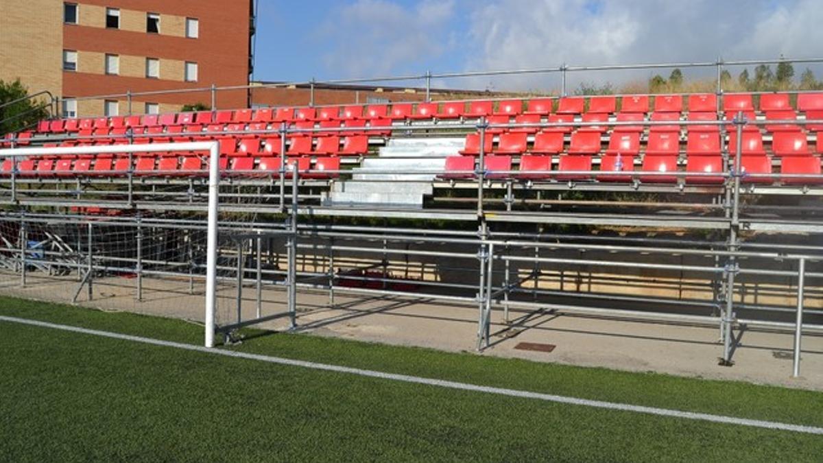
[[[248,85],[252,36],[252,0],[0,0],[0,79],[59,96],[64,117],[177,111],[212,92],[139,93]]]

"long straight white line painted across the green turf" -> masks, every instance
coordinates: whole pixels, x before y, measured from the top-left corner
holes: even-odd
[[[421,376],[399,375],[396,373],[375,372],[374,370],[364,370],[360,368],[341,367],[338,365],[328,365],[326,363],[306,362],[304,360],[294,360],[291,358],[271,357],[268,355],[260,355],[257,353],[243,353],[230,350],[221,350],[217,348],[207,348],[193,344],[175,343],[172,341],[164,341],[160,339],[144,338],[142,336],[132,336],[129,334],[112,333],[109,331],[89,330],[87,328],[80,328],[70,325],[58,325],[39,320],[28,320],[24,318],[17,318],[12,316],[0,316],[0,321],[7,321],[10,323],[20,323],[23,325],[40,326],[43,328],[52,328],[54,330],[72,331],[81,334],[93,334],[95,336],[103,336],[105,338],[123,339],[142,344],[152,344],[156,346],[164,346],[170,348],[180,348],[199,353],[208,353],[212,355],[222,355],[226,357],[245,358],[249,360],[258,360],[260,362],[277,363],[280,365],[289,365],[291,367],[304,367],[313,370],[323,370],[326,372],[347,373],[357,376],[368,376],[380,378],[390,381],[402,381],[414,384],[424,384],[426,386],[438,386],[449,389],[458,389],[461,391],[475,391],[486,392],[487,394],[508,395],[511,397],[522,397],[524,399],[545,400],[547,402],[556,402],[559,404],[569,405],[583,405],[586,407],[594,407],[597,409],[623,410],[635,412],[640,414],[653,414],[658,416],[667,416],[681,419],[695,419],[699,421],[709,421],[712,423],[736,424],[738,426],[749,426],[752,428],[775,429],[780,431],[792,431],[794,433],[807,433],[823,435],[823,428],[815,426],[804,426],[800,424],[778,423],[774,421],[763,421],[760,419],[745,419],[735,418],[732,416],[723,416],[718,414],[704,414],[696,412],[686,412],[673,409],[660,409],[657,407],[644,407],[642,405],[620,404],[616,402],[606,402],[602,400],[578,399],[576,397],[568,397],[565,395],[543,394],[540,392],[518,391],[515,389],[506,389],[503,387],[491,386],[477,386],[474,384],[467,384],[464,382],[444,381],[438,379],[425,378]]]

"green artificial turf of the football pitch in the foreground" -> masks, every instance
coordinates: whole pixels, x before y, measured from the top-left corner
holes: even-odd
[[[202,343],[202,327],[0,298],[0,315]],[[823,395],[249,331],[244,352],[823,426]],[[823,437],[286,367],[0,322],[0,460],[820,461]]]

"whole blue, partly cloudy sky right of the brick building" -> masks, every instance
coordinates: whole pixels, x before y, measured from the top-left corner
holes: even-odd
[[[308,82],[563,63],[815,58],[823,54],[816,47],[821,24],[821,0],[258,0],[253,78]],[[806,67],[796,64],[796,77]],[[576,72],[569,86],[645,80],[654,72],[669,71]],[[714,72],[684,69],[686,77]],[[556,73],[433,85],[537,90],[559,82]]]

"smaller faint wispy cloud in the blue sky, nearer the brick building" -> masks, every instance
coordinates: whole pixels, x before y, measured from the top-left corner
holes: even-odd
[[[323,63],[332,75],[372,77],[424,68],[450,46],[454,0],[402,7],[388,0],[358,0],[339,8],[320,28],[331,45]]]

